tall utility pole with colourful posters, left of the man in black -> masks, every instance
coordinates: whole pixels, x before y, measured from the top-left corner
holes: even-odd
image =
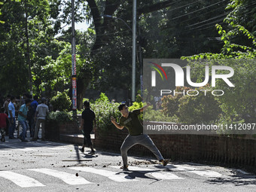
[[[72,0],[72,110],[73,117],[77,117],[77,68],[75,61],[75,0]]]

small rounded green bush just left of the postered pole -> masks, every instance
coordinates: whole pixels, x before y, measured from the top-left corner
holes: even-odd
[[[53,111],[68,111],[72,104],[71,99],[66,92],[58,92],[56,96],[50,99],[51,105],[53,105]]]

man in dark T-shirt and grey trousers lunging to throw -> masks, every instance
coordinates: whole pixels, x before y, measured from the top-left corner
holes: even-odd
[[[163,164],[163,166],[166,166],[167,163],[169,163],[169,159],[163,159],[162,154],[157,149],[156,145],[154,145],[154,142],[151,140],[151,138],[148,135],[143,134],[143,126],[139,121],[138,115],[141,114],[146,108],[148,108],[149,105],[150,103],[145,105],[143,108],[129,111],[129,108],[126,106],[126,104],[121,104],[118,107],[120,113],[122,114],[119,123],[117,123],[116,120],[111,117],[111,122],[114,124],[114,126],[117,127],[117,129],[123,130],[123,127],[125,126],[129,131],[129,135],[126,137],[126,139],[124,139],[120,148],[123,159],[123,166],[120,167],[120,169],[128,168],[127,151],[136,144],[140,144],[148,148],[157,157],[157,160]]]

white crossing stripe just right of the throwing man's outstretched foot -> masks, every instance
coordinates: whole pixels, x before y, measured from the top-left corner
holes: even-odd
[[[186,172],[193,172],[194,174],[203,176],[203,177],[214,177],[214,178],[218,178],[221,177],[221,173],[215,172],[215,171],[210,171],[210,170],[202,170],[202,169],[198,169],[195,167],[190,167],[190,166],[181,166],[181,165],[168,165],[166,166],[166,168],[168,169],[172,169],[174,171],[186,171]]]

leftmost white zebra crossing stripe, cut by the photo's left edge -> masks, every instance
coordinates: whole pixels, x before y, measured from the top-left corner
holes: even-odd
[[[0,171],[0,177],[6,178],[20,187],[44,187],[44,184],[41,184],[39,181],[36,181],[34,178],[30,178],[26,175],[20,175],[16,172],[10,171]]]

